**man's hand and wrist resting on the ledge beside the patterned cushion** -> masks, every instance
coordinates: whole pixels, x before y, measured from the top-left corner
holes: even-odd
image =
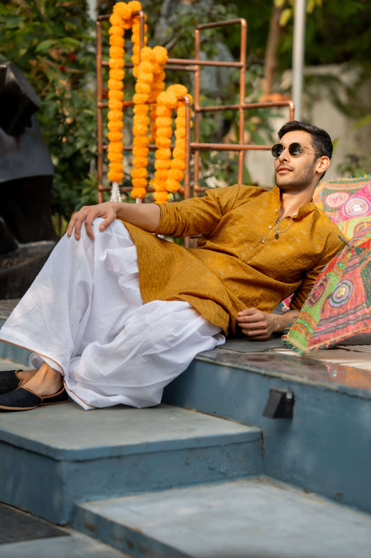
[[[283,314],[266,314],[257,308],[245,308],[238,312],[236,322],[242,333],[251,339],[268,339],[272,333],[283,333],[297,317],[297,310],[287,310]]]

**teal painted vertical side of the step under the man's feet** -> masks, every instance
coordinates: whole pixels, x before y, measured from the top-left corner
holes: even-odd
[[[253,438],[232,436],[228,442],[221,436],[219,445],[195,441],[191,448],[168,442],[162,451],[148,444],[146,453],[96,459],[83,452],[81,460],[55,460],[0,442],[0,501],[66,525],[79,502],[262,474],[260,435]]]

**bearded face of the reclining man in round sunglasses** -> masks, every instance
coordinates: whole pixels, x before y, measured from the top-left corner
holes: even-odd
[[[303,146],[297,156],[290,155],[288,146],[298,142]],[[315,186],[319,179],[317,154],[312,144],[312,136],[303,130],[287,132],[280,143],[285,147],[280,156],[274,159],[276,185],[283,191],[301,192]],[[308,148],[308,149],[306,149]]]

